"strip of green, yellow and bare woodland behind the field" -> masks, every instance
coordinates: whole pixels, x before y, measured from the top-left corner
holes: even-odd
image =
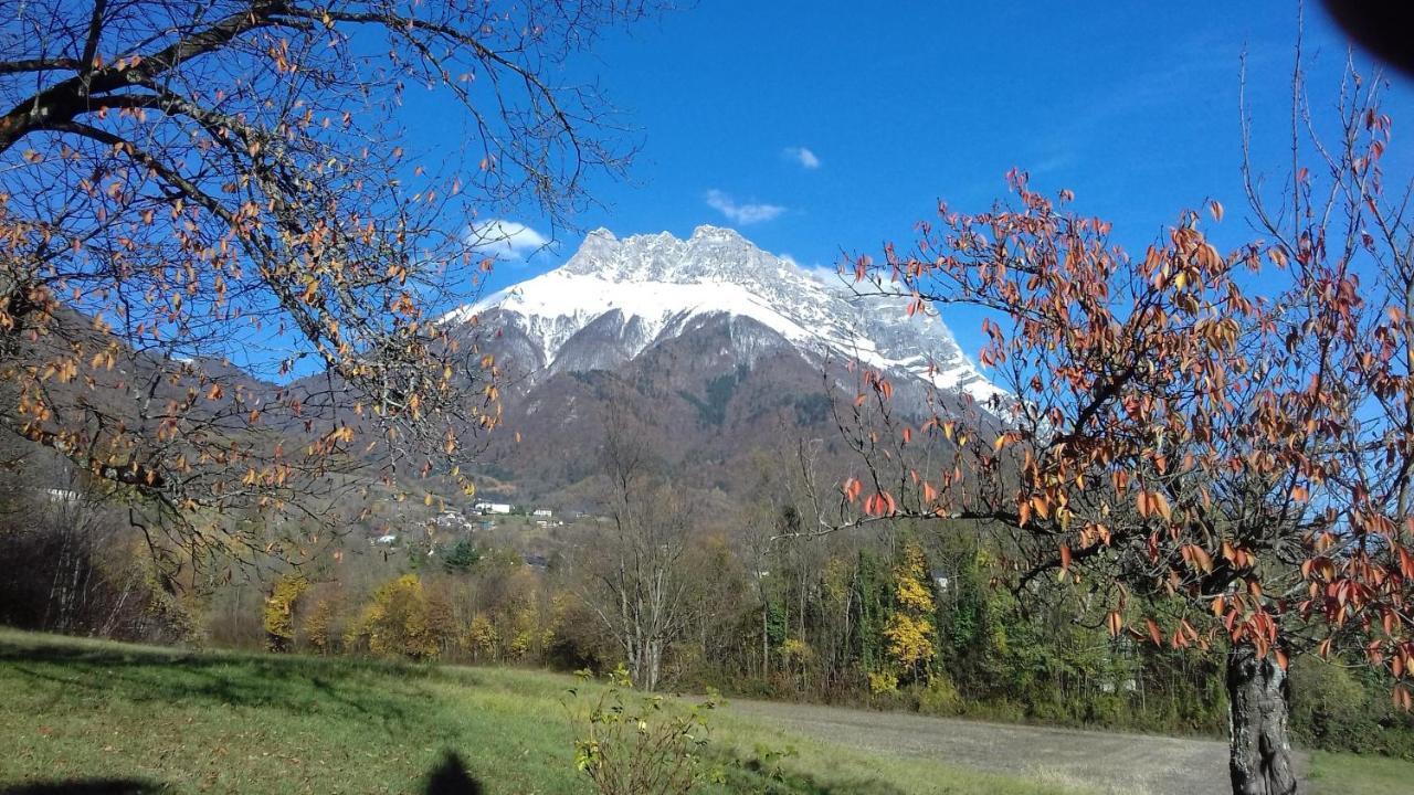
[[[608,515],[556,529],[546,563],[526,562],[529,522],[508,532],[419,533],[393,547],[349,535],[310,564],[264,579],[239,569],[226,579],[208,566],[178,596],[161,587],[140,536],[112,506],[79,491],[35,499],[34,489],[11,488],[0,497],[0,559],[17,574],[0,584],[0,621],[209,648],[563,672],[642,661],[638,680],[665,692],[711,687],[978,720],[1226,733],[1222,644],[1174,649],[1114,638],[1099,604],[1053,580],[1015,593],[1001,584],[1005,550],[973,522],[901,519],[800,538],[809,505],[779,497],[799,484],[772,480],[789,468],[782,461],[761,454],[758,463],[762,491],[735,511],[679,515],[658,525],[666,530],[629,538],[607,501]],[[645,540],[672,549],[652,556]],[[645,576],[608,577],[624,560]],[[670,591],[659,610],[612,615],[625,594],[648,604],[652,581]],[[1179,615],[1179,605],[1169,613]],[[635,637],[635,620],[659,627],[656,635]],[[1172,624],[1159,631],[1171,634]],[[649,672],[653,645],[660,671]],[[1305,747],[1414,760],[1414,717],[1391,704],[1387,675],[1304,656],[1291,678],[1291,730]]]

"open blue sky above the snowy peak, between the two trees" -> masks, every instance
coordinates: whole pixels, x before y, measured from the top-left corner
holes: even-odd
[[[1309,6],[1321,108],[1346,44]],[[1277,1],[703,0],[608,35],[561,75],[601,83],[642,143],[629,180],[600,181],[604,207],[575,222],[621,236],[727,225],[803,265],[833,265],[841,250],[911,240],[939,198],[986,209],[1015,166],[1036,188],[1075,191],[1076,208],[1111,219],[1131,249],[1208,198],[1227,207],[1219,238],[1236,243],[1247,232],[1239,57],[1257,160],[1281,178],[1295,35],[1295,6]],[[1414,124],[1414,91],[1390,81],[1390,166],[1407,171],[1411,150],[1397,143]],[[557,266],[580,239],[508,219],[560,242],[502,263],[493,287]],[[976,318],[945,320],[974,354]]]

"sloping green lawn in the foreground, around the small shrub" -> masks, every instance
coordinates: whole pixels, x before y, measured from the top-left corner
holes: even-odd
[[[185,652],[0,629],[0,792],[133,781],[143,792],[421,792],[455,753],[488,794],[587,794],[551,673]],[[1044,782],[871,758],[720,713],[738,791],[1041,795]]]

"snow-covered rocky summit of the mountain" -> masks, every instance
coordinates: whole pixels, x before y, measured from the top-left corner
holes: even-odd
[[[699,226],[686,240],[666,232],[621,240],[595,229],[561,267],[454,310],[443,323],[496,313],[495,323],[529,341],[536,366],[578,371],[602,368],[605,358],[635,358],[684,334],[694,320],[740,317],[816,359],[858,359],[977,400],[1001,392],[939,318],[908,318],[902,308],[901,298],[860,297],[827,284],[732,229]],[[592,361],[584,361],[585,345],[568,345],[581,332],[595,335]],[[561,361],[570,351],[573,361]]]

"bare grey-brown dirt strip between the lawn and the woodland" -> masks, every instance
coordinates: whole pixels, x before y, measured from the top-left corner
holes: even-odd
[[[742,714],[829,743],[1021,774],[1104,795],[1230,792],[1227,747],[1213,740],[945,720],[916,714],[732,700]],[[1305,767],[1305,760],[1298,760]]]

